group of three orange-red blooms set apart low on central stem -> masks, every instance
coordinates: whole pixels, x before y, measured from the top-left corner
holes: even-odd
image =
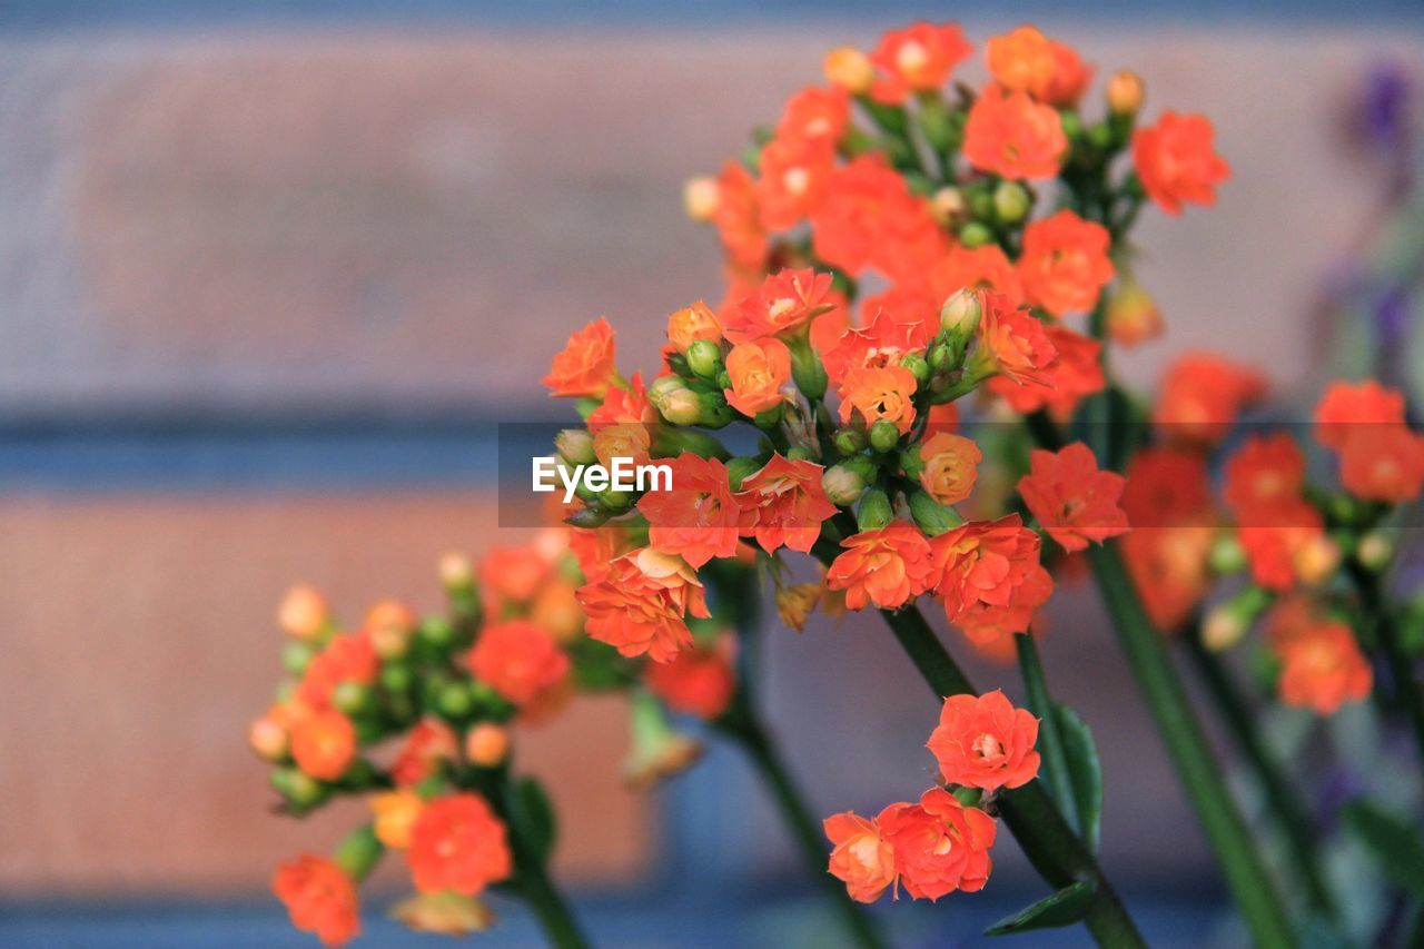
[[[950,695],[927,745],[948,789],[930,788],[917,802],[891,804],[874,818],[853,811],[826,818],[832,876],[863,903],[891,888],[896,896],[904,888],[913,899],[930,901],[984,889],[998,826],[980,792],[1032,781],[1037,740],[1038,720],[1004,693]]]

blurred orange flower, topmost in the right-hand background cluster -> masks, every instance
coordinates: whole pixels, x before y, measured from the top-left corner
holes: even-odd
[[[1208,352],[1189,352],[1166,370],[1152,420],[1171,442],[1210,446],[1226,436],[1242,408],[1266,395],[1250,366]]]

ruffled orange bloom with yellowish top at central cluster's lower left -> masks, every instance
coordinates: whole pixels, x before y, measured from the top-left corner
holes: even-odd
[[[651,547],[614,560],[604,580],[578,590],[578,601],[590,638],[655,663],[692,645],[686,616],[709,616],[696,571],[682,557]]]

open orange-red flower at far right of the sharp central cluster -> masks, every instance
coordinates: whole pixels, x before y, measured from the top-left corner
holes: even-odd
[[[1125,484],[1121,474],[1099,472],[1092,449],[1074,442],[1057,453],[1034,449],[1018,493],[1064,550],[1087,550],[1089,541],[1128,533],[1128,516],[1118,504]]]

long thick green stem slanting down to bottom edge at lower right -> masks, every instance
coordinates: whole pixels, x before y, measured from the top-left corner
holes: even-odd
[[[1172,668],[1162,636],[1142,607],[1118,547],[1111,543],[1089,547],[1088,560],[1122,653],[1256,945],[1296,945],[1249,828],[1226,792],[1202,725]]]

